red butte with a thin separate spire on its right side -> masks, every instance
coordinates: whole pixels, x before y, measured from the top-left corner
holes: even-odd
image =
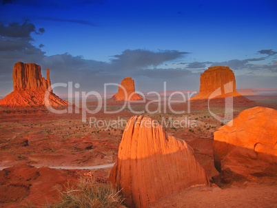
[[[52,92],[49,69],[47,80],[45,80],[41,76],[40,65],[18,62],[14,64],[12,80],[14,91],[0,100],[1,106],[28,107],[49,104],[58,107],[68,105],[67,101],[63,101]],[[49,103],[45,103],[45,92],[49,95]]]

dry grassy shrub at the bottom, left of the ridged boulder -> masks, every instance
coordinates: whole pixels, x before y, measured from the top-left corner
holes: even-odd
[[[57,190],[61,195],[61,200],[48,205],[48,208],[100,208],[100,207],[121,207],[123,204],[123,196],[121,190],[116,191],[109,183],[94,183],[92,176],[81,176],[74,184],[58,186]]]

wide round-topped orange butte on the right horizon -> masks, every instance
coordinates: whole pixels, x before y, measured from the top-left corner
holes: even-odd
[[[227,96],[243,97],[236,92],[236,79],[234,72],[227,66],[213,66],[209,67],[201,74],[200,92],[191,98],[191,100],[225,98]]]

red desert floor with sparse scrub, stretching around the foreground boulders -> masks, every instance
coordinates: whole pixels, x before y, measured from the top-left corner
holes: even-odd
[[[262,102],[263,98],[256,98]],[[276,97],[260,105],[277,109]],[[152,110],[156,105],[150,106]],[[163,106],[162,106],[163,107]],[[91,108],[94,108],[93,102]],[[120,106],[112,103],[107,110]],[[136,105],[135,110],[145,109]],[[186,110],[181,104],[176,110]],[[248,106],[234,107],[236,117]],[[223,116],[224,107],[212,111]],[[55,185],[76,180],[81,174],[92,173],[94,180],[107,183],[110,167],[83,169],[116,162],[117,151],[125,123],[134,114],[127,108],[117,114],[88,115],[52,114],[43,108],[0,108],[0,207],[32,207],[51,204],[59,198]],[[213,160],[213,134],[222,125],[207,107],[193,106],[191,112],[143,114],[163,126],[167,134],[183,139],[195,152],[196,160],[205,169],[212,186],[192,187],[164,196],[150,207],[277,207],[277,180],[254,178],[254,182],[222,184],[216,180],[218,171]],[[110,125],[92,121],[114,121]],[[121,120],[123,119],[123,120]],[[121,122],[122,121],[122,122]],[[187,121],[185,127],[172,127],[170,122]],[[189,123],[189,122],[196,122]],[[115,125],[116,123],[116,125]],[[183,123],[184,124],[184,123]],[[51,168],[56,167],[56,168]],[[70,167],[70,169],[57,169]],[[76,168],[76,169],[74,169]]]

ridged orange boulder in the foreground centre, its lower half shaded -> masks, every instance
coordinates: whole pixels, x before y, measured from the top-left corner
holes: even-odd
[[[143,116],[127,122],[110,181],[122,189],[128,207],[147,207],[167,194],[209,184],[192,147]]]

